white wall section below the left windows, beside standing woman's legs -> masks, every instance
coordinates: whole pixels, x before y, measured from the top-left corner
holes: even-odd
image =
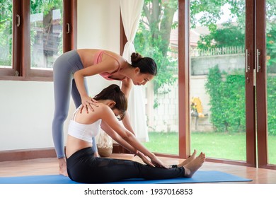
[[[0,151],[52,146],[52,83],[0,81]]]

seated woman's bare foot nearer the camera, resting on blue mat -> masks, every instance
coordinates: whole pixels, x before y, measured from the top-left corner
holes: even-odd
[[[195,158],[190,163],[184,165],[185,168],[185,175],[184,177],[192,177],[194,173],[202,166],[202,164],[205,162],[205,153],[200,153],[197,158]]]

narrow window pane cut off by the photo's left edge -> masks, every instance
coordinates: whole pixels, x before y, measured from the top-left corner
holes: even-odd
[[[12,57],[12,0],[0,1],[0,67],[11,68]]]

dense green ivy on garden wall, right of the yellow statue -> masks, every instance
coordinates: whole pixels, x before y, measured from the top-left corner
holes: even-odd
[[[217,65],[209,69],[205,88],[217,132],[244,132],[246,128],[244,76],[237,74],[222,74]]]

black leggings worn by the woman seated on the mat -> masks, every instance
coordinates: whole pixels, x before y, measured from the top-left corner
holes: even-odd
[[[130,178],[161,180],[183,177],[185,170],[178,168],[155,168],[142,163],[113,158],[95,158],[93,149],[83,148],[67,158],[67,172],[71,180],[81,183],[115,182]]]

